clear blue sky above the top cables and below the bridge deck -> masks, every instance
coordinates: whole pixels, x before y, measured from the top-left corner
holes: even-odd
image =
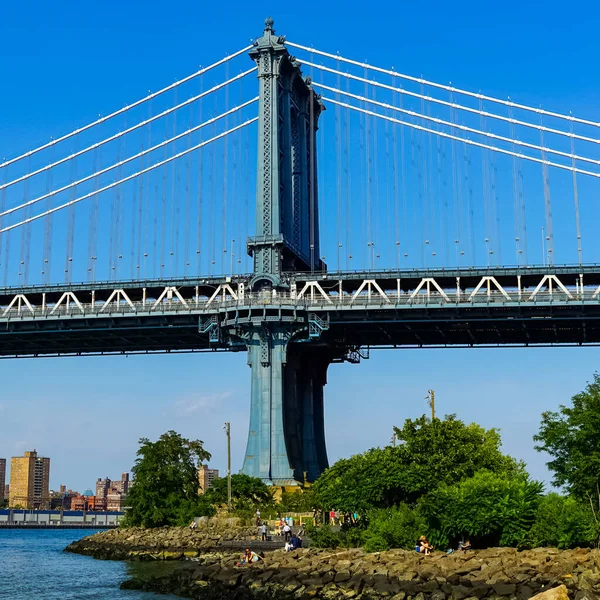
[[[290,3],[172,6],[3,6],[0,155],[69,131],[237,50],[261,33],[267,15],[278,33],[299,43],[598,116],[594,2],[323,2],[315,13]],[[386,443],[393,424],[426,410],[433,387],[439,412],[499,427],[505,450],[548,480],[531,439],[540,413],[582,389],[599,356],[595,348],[407,350],[373,352],[360,366],[334,365],[326,388],[330,458]],[[203,439],[212,464],[223,468],[226,420],[234,468],[241,467],[249,369],[240,355],[0,361],[0,382],[0,456],[37,448],[52,459],[52,487],[81,491],[98,477],[118,477],[131,467],[140,436],[170,428]]]

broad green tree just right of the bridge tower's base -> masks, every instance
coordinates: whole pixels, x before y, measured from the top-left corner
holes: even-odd
[[[454,415],[407,419],[395,433],[395,448],[374,448],[326,470],[313,487],[319,505],[364,516],[373,508],[414,504],[439,484],[462,481],[481,469],[524,472],[501,452],[496,429],[466,425]]]

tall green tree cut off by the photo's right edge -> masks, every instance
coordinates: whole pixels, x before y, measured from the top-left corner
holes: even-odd
[[[553,483],[590,504],[597,514],[600,502],[600,375],[573,396],[571,406],[542,414],[536,450],[547,452]]]

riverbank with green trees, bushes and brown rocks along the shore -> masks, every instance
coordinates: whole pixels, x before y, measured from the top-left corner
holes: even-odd
[[[542,414],[535,448],[550,456],[561,493],[546,493],[504,454],[498,430],[432,414],[407,419],[390,445],[337,461],[297,494],[276,500],[262,481],[232,476],[226,514],[238,521],[214,518],[227,505],[225,479],[198,493],[198,465],[210,458],[203,442],[169,431],[140,440],[124,527],[68,551],[180,561],[162,578],[124,585],[193,598],[527,600],[564,584],[562,600],[596,600],[599,415],[598,374],[569,406]],[[259,524],[307,511],[318,525],[306,527],[309,548],[234,567]],[[185,527],[198,517],[197,529]],[[415,552],[422,539],[436,549],[430,556]],[[457,550],[465,544],[472,550]]]

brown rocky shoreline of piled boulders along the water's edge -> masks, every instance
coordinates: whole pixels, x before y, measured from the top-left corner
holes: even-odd
[[[181,559],[166,575],[130,580],[123,587],[205,600],[527,600],[561,585],[572,600],[596,600],[600,594],[598,550],[493,548],[428,557],[404,550],[275,550],[243,567],[235,566],[239,552],[205,550],[232,536],[243,541],[242,529],[104,532],[68,550],[105,559]],[[249,531],[254,535],[255,528]],[[566,594],[562,598],[567,600]]]

